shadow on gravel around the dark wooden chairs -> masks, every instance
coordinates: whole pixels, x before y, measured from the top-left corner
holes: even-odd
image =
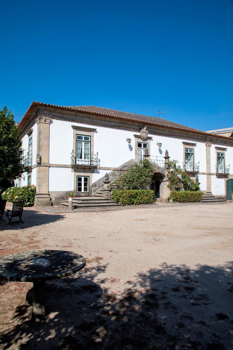
[[[53,223],[64,219],[63,215],[60,214],[45,214],[36,209],[25,209],[23,210],[22,223],[13,223],[13,225],[8,225],[9,221],[7,216],[4,214],[3,219],[5,222],[0,221],[0,230],[24,230],[29,227],[41,226],[49,223]],[[12,222],[19,220],[18,217],[12,218]]]

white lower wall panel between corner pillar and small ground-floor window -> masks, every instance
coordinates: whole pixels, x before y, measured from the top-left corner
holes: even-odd
[[[74,173],[71,168],[49,168],[49,191],[73,191]]]

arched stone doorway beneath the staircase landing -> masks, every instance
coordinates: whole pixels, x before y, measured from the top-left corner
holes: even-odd
[[[154,173],[152,181],[151,189],[154,191],[155,201],[167,203],[170,195],[167,176],[162,173]]]

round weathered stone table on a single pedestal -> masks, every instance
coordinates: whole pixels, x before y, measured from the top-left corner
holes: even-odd
[[[86,265],[82,255],[64,250],[36,250],[0,258],[0,276],[8,281],[33,282],[31,318],[45,314],[45,282],[70,276]]]

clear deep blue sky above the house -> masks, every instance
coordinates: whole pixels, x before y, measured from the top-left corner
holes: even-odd
[[[16,121],[35,100],[233,126],[232,0],[3,0],[0,12],[0,108]]]

